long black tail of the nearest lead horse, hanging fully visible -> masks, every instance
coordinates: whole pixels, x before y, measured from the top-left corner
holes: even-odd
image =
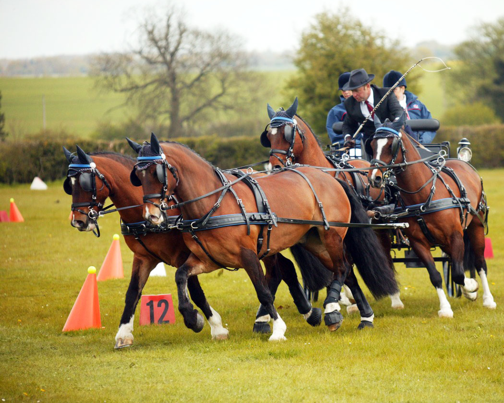
[[[347,183],[337,180],[350,201],[352,209],[350,222],[369,224],[366,211],[355,192]],[[348,228],[344,243],[374,298],[379,299],[399,291],[394,267],[371,228]]]

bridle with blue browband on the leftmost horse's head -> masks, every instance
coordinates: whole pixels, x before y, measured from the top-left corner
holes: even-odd
[[[81,203],[72,203],[71,210],[72,211],[77,211],[85,216],[88,216],[88,218],[93,222],[95,225],[96,231],[93,230],[93,234],[96,237],[100,237],[100,228],[98,226],[98,217],[101,215],[101,211],[96,211],[94,208],[96,207],[97,209],[100,210],[105,210],[113,205],[110,205],[103,209],[103,204],[99,203],[97,201],[97,192],[98,190],[102,190],[104,186],[108,188],[109,191],[109,196],[112,193],[112,189],[110,185],[108,184],[107,180],[105,179],[105,176],[103,176],[100,171],[96,168],[96,164],[94,162],[90,162],[88,164],[70,164],[68,166],[68,173],[67,173],[67,179],[65,179],[65,182],[63,183],[63,188],[65,189],[65,192],[67,194],[72,195],[72,186],[70,185],[70,178],[73,176],[76,176],[80,174],[79,176],[79,184],[81,185],[82,189],[87,192],[92,192],[92,198],[91,201],[83,201]],[[102,186],[100,189],[96,188],[96,177],[99,177],[102,181]],[[81,210],[81,208],[88,208],[88,212],[85,212],[84,210]]]

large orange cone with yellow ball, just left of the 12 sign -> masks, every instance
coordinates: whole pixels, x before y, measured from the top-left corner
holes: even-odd
[[[89,266],[88,273],[62,331],[101,328],[96,267]]]

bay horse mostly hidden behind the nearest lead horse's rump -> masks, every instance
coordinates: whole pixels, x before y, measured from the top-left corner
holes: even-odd
[[[270,119],[269,129],[261,135],[261,144],[270,148],[270,163],[273,167],[287,166],[289,164],[312,165],[333,169],[335,164],[333,160],[322,150],[322,145],[318,137],[314,134],[311,127],[297,113],[297,97],[292,105],[287,109],[275,110],[268,104],[267,111]],[[367,168],[369,162],[362,159],[349,159],[346,161],[348,167]],[[383,204],[385,192],[383,188],[374,188],[369,186],[366,174],[360,172],[329,171],[329,173],[339,179],[344,180],[353,189],[360,193],[360,198],[364,207],[372,208],[374,205]],[[390,255],[391,238],[388,231],[377,230],[376,236],[380,239],[387,256],[391,270],[394,263]],[[361,244],[362,247],[366,245]],[[301,258],[299,258],[301,260]],[[304,265],[303,265],[304,266]],[[300,267],[302,267],[300,265]],[[301,268],[302,270],[302,268]],[[309,276],[303,276],[309,279]],[[325,284],[313,284],[312,288],[321,289]],[[352,291],[352,290],[350,290]],[[392,308],[403,309],[404,304],[401,301],[399,291],[390,296]],[[352,309],[353,308],[353,309]],[[355,310],[355,306],[349,306],[348,312]]]

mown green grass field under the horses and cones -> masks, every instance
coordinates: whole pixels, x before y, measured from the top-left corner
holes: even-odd
[[[450,299],[453,319],[437,317],[438,298],[425,269],[398,265],[405,309],[369,301],[375,328],[357,330],[358,315],[344,311],[342,327],[311,328],[297,313],[287,287],[276,306],[287,341],[269,343],[251,332],[258,306],[241,270],[200,276],[230,339],[210,340],[176,323],[138,325],[134,347],[114,351],[114,336],[131,274],[132,253],[121,239],[125,277],[98,284],[102,329],[62,333],[86,278],[101,265],[119,231],[117,215],[100,219],[102,237],[79,233],[68,222],[71,198],[61,182],[35,192],[0,186],[25,223],[2,223],[0,242],[0,398],[6,401],[503,401],[504,170],[483,171],[495,258],[488,260],[496,310]],[[152,278],[144,294],[172,293],[173,270]],[[367,290],[366,290],[367,293]],[[367,293],[368,294],[368,293]],[[322,305],[322,301],[317,303]],[[137,312],[138,313],[138,312]],[[43,389],[43,390],[42,390]]]

